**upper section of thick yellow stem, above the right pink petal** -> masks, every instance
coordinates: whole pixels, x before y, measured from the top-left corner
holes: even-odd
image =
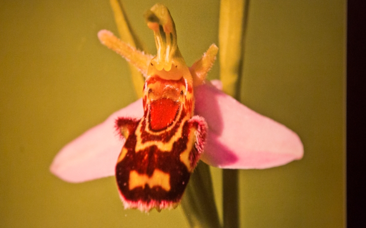
[[[220,4],[220,79],[224,92],[233,97],[240,73],[244,6],[243,0],[222,0]]]

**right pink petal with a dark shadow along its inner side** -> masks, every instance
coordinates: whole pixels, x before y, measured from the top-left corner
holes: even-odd
[[[195,112],[209,129],[201,160],[229,169],[265,169],[301,159],[297,134],[240,104],[214,86],[195,88]]]

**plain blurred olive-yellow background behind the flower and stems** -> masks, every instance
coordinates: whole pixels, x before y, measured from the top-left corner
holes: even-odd
[[[159,1],[188,65],[218,43],[219,1]],[[155,54],[143,13],[123,1]],[[346,2],[250,1],[241,102],[298,133],[304,158],[239,172],[241,227],[345,226]],[[114,178],[71,184],[48,168],[63,145],[136,99],[108,0],[0,2],[0,226],[187,227],[180,207],[124,210]],[[218,63],[218,62],[217,62]],[[210,79],[218,78],[215,65]],[[212,169],[221,211],[221,170]]]

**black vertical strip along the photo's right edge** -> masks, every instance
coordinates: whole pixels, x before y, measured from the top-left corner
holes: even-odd
[[[366,1],[347,3],[347,227],[366,227]]]

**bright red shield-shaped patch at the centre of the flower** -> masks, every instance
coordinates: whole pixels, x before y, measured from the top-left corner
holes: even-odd
[[[175,119],[179,102],[160,98],[150,103],[150,126],[158,131],[168,127]]]

